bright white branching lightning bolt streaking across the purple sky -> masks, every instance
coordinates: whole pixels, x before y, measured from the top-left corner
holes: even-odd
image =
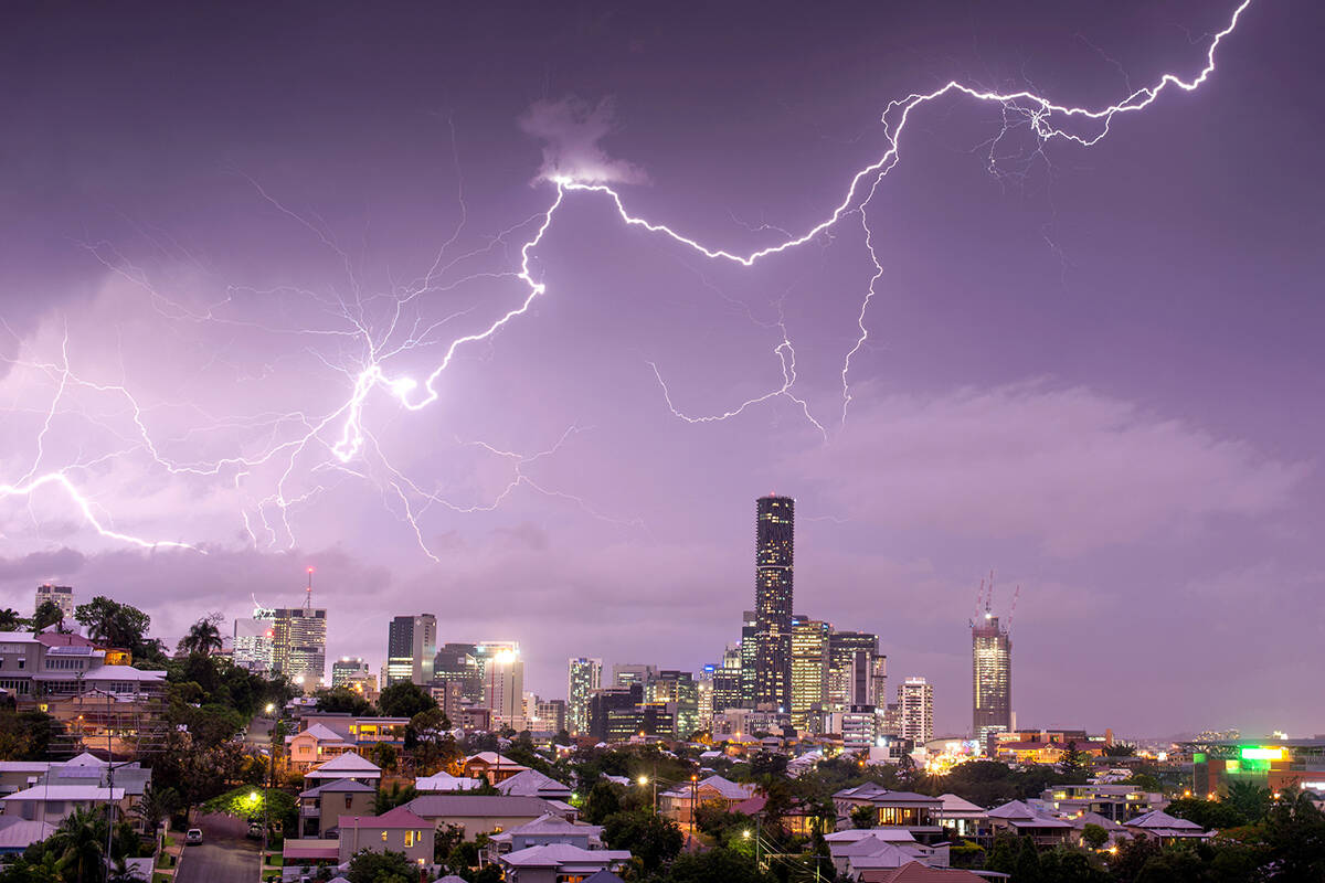
[[[1112,126],[1116,116],[1137,113],[1145,110],[1153,105],[1165,91],[1181,90],[1181,91],[1195,91],[1199,89],[1211,74],[1215,71],[1215,56],[1220,44],[1227,38],[1238,26],[1246,9],[1251,5],[1251,0],[1243,0],[1232,12],[1228,24],[1219,32],[1216,32],[1210,40],[1210,45],[1206,50],[1204,65],[1200,70],[1185,79],[1178,74],[1166,73],[1157,82],[1150,86],[1132,90],[1124,99],[1108,105],[1105,107],[1073,107],[1068,105],[1055,103],[1049,98],[1039,94],[1034,90],[1018,90],[1018,91],[996,91],[977,89],[974,86],[965,85],[955,79],[946,82],[928,93],[912,93],[901,99],[890,101],[884,109],[880,123],[884,132],[884,151],[878,159],[869,165],[859,169],[847,185],[845,193],[841,200],[832,208],[832,210],[819,222],[808,226],[804,232],[799,234],[790,234],[780,228],[772,228],[770,225],[759,225],[759,230],[776,232],[782,236],[780,240],[766,245],[763,248],[747,252],[737,253],[722,248],[713,248],[704,245],[698,240],[689,237],[673,226],[661,224],[657,221],[651,221],[645,217],[632,213],[625,204],[621,193],[604,183],[596,183],[590,180],[576,180],[571,176],[551,175],[546,180],[554,188],[553,201],[549,208],[539,212],[525,221],[511,226],[507,230],[498,233],[492,237],[489,244],[465,254],[460,254],[450,259],[444,256],[448,248],[452,246],[464,225],[466,222],[466,210],[464,203],[464,188],[462,179],[461,184],[457,185],[457,201],[460,204],[460,221],[452,236],[440,248],[432,266],[428,269],[425,277],[419,282],[419,285],[405,290],[404,295],[392,295],[390,299],[394,302],[390,307],[391,316],[387,322],[384,332],[374,332],[372,323],[367,318],[370,310],[374,307],[376,299],[375,295],[366,295],[358,281],[358,274],[355,271],[354,262],[348,254],[337,244],[334,237],[326,230],[325,225],[315,222],[314,220],[306,218],[282,205],[277,199],[269,195],[257,181],[249,179],[249,183],[257,189],[260,197],[273,205],[281,213],[289,216],[297,224],[305,226],[314,237],[317,237],[326,248],[335,253],[350,281],[350,294],[348,299],[334,297],[323,298],[314,293],[295,291],[301,295],[307,295],[314,298],[327,314],[334,316],[338,322],[346,323],[343,328],[321,330],[321,328],[281,328],[269,324],[260,323],[246,323],[237,322],[232,319],[223,318],[217,314],[217,310],[228,303],[235,297],[241,297],[245,294],[244,290],[236,289],[228,293],[227,298],[221,302],[212,304],[205,311],[195,311],[187,308],[186,306],[172,301],[171,298],[156,291],[146,274],[130,265],[127,261],[113,256],[111,258],[103,257],[103,253],[109,249],[105,244],[89,245],[89,252],[93,253],[98,259],[106,263],[107,267],[115,273],[123,275],[132,283],[142,286],[147,290],[150,295],[150,302],[154,308],[156,308],[163,316],[172,320],[187,320],[187,322],[219,322],[227,324],[235,324],[240,328],[253,328],[268,334],[281,334],[281,335],[298,335],[298,336],[342,336],[348,340],[359,342],[364,347],[364,353],[358,369],[347,369],[343,365],[337,365],[321,355],[325,367],[330,371],[339,372],[347,377],[350,381],[347,397],[331,408],[326,413],[321,414],[306,414],[303,412],[289,412],[277,414],[262,414],[258,417],[261,424],[270,428],[270,443],[265,446],[258,454],[242,457],[229,457],[215,462],[191,462],[180,463],[175,462],[164,455],[162,455],[159,446],[152,441],[151,434],[147,430],[143,418],[143,408],[134,398],[130,391],[123,385],[110,385],[110,384],[94,384],[91,381],[78,377],[69,367],[69,353],[68,353],[68,335],[65,339],[64,361],[60,365],[25,361],[26,367],[45,372],[49,377],[56,381],[56,392],[52,397],[49,409],[45,413],[45,420],[42,428],[36,440],[36,457],[32,467],[19,479],[12,483],[0,485],[0,499],[8,496],[30,498],[36,491],[44,487],[58,487],[61,488],[76,504],[76,507],[82,512],[85,522],[95,530],[101,536],[129,543],[132,545],[139,545],[144,548],[154,547],[180,547],[201,551],[197,545],[170,541],[170,540],[151,540],[140,536],[134,536],[123,534],[113,527],[109,519],[98,518],[98,504],[89,499],[78,487],[78,485],[70,478],[70,473],[76,469],[85,469],[91,463],[101,462],[110,457],[117,457],[125,451],[115,451],[106,454],[103,457],[95,458],[94,461],[80,462],[72,466],[57,469],[53,471],[46,471],[38,474],[41,465],[45,459],[44,443],[46,434],[50,429],[52,421],[68,395],[70,388],[83,388],[97,393],[106,393],[119,397],[129,408],[130,420],[135,425],[135,441],[134,446],[142,449],[147,453],[148,458],[158,466],[166,469],[170,474],[187,474],[197,477],[219,477],[227,474],[236,487],[244,486],[244,482],[253,474],[253,470],[265,466],[277,466],[278,477],[274,485],[273,492],[258,499],[254,514],[262,523],[261,531],[264,531],[270,541],[274,543],[280,534],[284,534],[289,544],[294,544],[294,531],[289,520],[289,510],[293,506],[307,502],[313,496],[318,495],[325,490],[322,485],[318,485],[302,494],[293,492],[289,488],[289,483],[310,451],[321,455],[311,470],[313,471],[339,471],[347,477],[355,478],[370,478],[367,470],[360,470],[351,467],[350,463],[364,457],[368,449],[372,449],[375,457],[374,459],[383,465],[386,470],[384,488],[390,488],[391,494],[399,499],[401,503],[403,518],[408,522],[419,539],[420,547],[424,552],[436,560],[427,543],[423,540],[423,534],[420,531],[417,519],[423,511],[432,506],[440,504],[452,511],[477,511],[478,508],[486,508],[497,506],[504,500],[511,491],[519,486],[527,486],[538,492],[543,492],[553,496],[566,496],[567,499],[575,500],[578,504],[586,508],[586,511],[592,512],[584,500],[574,498],[559,491],[550,491],[538,486],[533,479],[525,475],[521,469],[522,466],[534,462],[535,459],[543,457],[545,454],[554,453],[556,447],[566,441],[571,430],[562,437],[549,451],[543,451],[538,455],[523,457],[513,451],[504,451],[494,446],[485,446],[493,455],[507,459],[513,463],[511,481],[507,486],[497,495],[490,504],[482,506],[461,506],[445,500],[435,491],[420,487],[416,482],[404,477],[403,473],[395,470],[386,462],[386,458],[380,454],[380,446],[372,437],[372,433],[364,425],[364,406],[370,396],[375,391],[383,391],[388,397],[394,398],[403,409],[409,412],[419,412],[440,397],[439,381],[447,369],[453,364],[456,353],[462,348],[477,344],[481,342],[488,342],[493,339],[504,327],[514,322],[517,318],[523,316],[529,312],[530,307],[535,303],[538,298],[547,293],[547,285],[535,278],[535,271],[533,267],[534,256],[542,245],[547,232],[553,228],[553,224],[558,216],[558,212],[563,205],[566,205],[567,199],[572,195],[586,196],[594,199],[602,199],[608,205],[611,205],[620,221],[628,228],[640,228],[651,234],[659,236],[674,245],[682,246],[689,252],[698,254],[710,261],[721,261],[733,263],[742,267],[751,267],[757,262],[770,258],[772,256],[783,254],[792,249],[796,249],[807,242],[811,242],[827,233],[831,228],[836,226],[843,218],[859,214],[860,224],[864,230],[865,249],[869,254],[871,262],[873,265],[873,274],[865,287],[865,293],[860,304],[860,311],[857,314],[856,324],[859,327],[859,335],[856,336],[855,344],[843,357],[841,367],[841,424],[845,424],[847,410],[852,401],[851,395],[851,363],[852,359],[864,348],[869,339],[869,330],[867,326],[867,312],[869,310],[871,302],[877,293],[877,285],[884,277],[884,265],[876,253],[873,234],[868,220],[868,207],[874,197],[881,181],[888,176],[888,173],[897,165],[901,159],[901,143],[902,135],[906,130],[908,123],[912,119],[912,114],[933,102],[937,102],[945,97],[963,97],[971,99],[977,103],[996,105],[1003,116],[1003,131],[991,140],[990,143],[990,156],[988,165],[991,172],[998,171],[998,159],[995,156],[995,148],[999,138],[1007,134],[1014,120],[1020,120],[1023,124],[1028,126],[1037,142],[1037,152],[1043,151],[1044,146],[1055,139],[1075,143],[1080,147],[1092,147],[1104,139],[1112,131]],[[448,120],[449,124],[449,120]],[[452,132],[452,148],[454,152],[454,127],[450,128]],[[457,155],[457,171],[458,171],[458,155]],[[466,265],[466,262],[476,259],[484,254],[488,254],[496,249],[505,249],[510,237],[515,236],[518,230],[526,229],[533,225],[533,233],[523,241],[519,246],[519,261],[518,269],[514,271],[501,271],[501,273],[469,273],[454,282],[448,285],[441,285],[440,279],[444,275],[454,270],[456,267]],[[476,279],[513,279],[523,286],[523,297],[519,302],[500,314],[494,320],[489,322],[486,326],[474,331],[472,334],[465,334],[454,336],[445,344],[440,360],[436,367],[425,376],[423,380],[408,375],[394,375],[388,371],[387,365],[394,357],[412,349],[419,349],[423,347],[439,346],[443,340],[445,326],[462,315],[472,312],[477,304],[470,306],[465,310],[453,312],[437,322],[425,323],[421,318],[415,318],[412,322],[405,319],[405,308],[419,298],[429,294],[436,294],[440,291],[450,291],[461,286],[462,283],[472,282]],[[653,371],[655,379],[657,380],[662,398],[666,402],[668,409],[674,417],[689,424],[708,424],[714,421],[729,420],[745,413],[747,409],[754,408],[762,402],[774,398],[787,398],[795,402],[806,420],[810,421],[823,436],[825,441],[829,438],[828,430],[824,425],[816,420],[811,412],[808,404],[804,398],[799,397],[794,392],[796,372],[795,372],[795,349],[788,339],[786,327],[778,323],[782,331],[780,342],[774,347],[772,353],[778,359],[780,367],[782,383],[768,392],[751,397],[733,408],[727,408],[721,413],[708,414],[708,416],[693,416],[677,408],[673,393],[668,388],[659,365],[655,361],[649,361],[648,365]],[[17,335],[15,335],[17,336]],[[21,343],[21,342],[20,342]],[[19,363],[16,363],[19,364]],[[252,418],[245,418],[252,420]],[[238,422],[242,422],[238,421]],[[223,425],[224,421],[217,421],[216,425]],[[253,425],[253,424],[244,424]],[[290,428],[295,428],[292,436],[286,436]],[[574,429],[574,428],[572,428]],[[420,504],[411,502],[420,500]],[[269,508],[280,514],[281,526],[280,531],[274,527],[266,515]],[[596,512],[592,512],[598,515]],[[248,512],[242,512],[244,531],[253,544],[258,543],[258,528],[250,520]]]

